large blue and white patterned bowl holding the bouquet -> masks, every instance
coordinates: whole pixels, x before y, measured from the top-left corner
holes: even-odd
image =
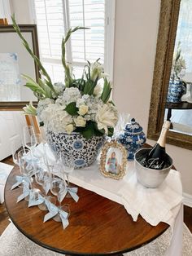
[[[75,169],[92,165],[106,141],[105,136],[85,139],[77,132],[68,135],[65,132],[55,133],[50,130],[46,130],[46,139],[50,148],[54,145],[57,155],[61,156],[67,165],[69,160],[74,161]]]

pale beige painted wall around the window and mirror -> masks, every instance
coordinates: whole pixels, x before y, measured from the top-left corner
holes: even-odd
[[[20,24],[30,23],[28,1],[11,0]],[[116,0],[114,100],[147,130],[160,0]],[[28,20],[29,19],[29,20]],[[154,141],[148,141],[154,144]],[[185,193],[192,195],[192,151],[167,146],[181,170]]]

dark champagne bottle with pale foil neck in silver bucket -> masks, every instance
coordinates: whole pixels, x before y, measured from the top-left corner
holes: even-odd
[[[143,161],[143,166],[156,170],[162,170],[164,169],[164,166],[166,166],[165,143],[170,125],[170,121],[164,121],[159,139]]]

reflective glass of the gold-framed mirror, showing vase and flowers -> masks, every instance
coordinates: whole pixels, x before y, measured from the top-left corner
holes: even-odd
[[[192,135],[192,0],[181,0],[164,119]]]

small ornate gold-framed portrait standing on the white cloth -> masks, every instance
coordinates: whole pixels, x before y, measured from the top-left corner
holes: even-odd
[[[105,177],[122,179],[126,172],[127,151],[115,140],[105,143],[100,159],[100,171]]]

